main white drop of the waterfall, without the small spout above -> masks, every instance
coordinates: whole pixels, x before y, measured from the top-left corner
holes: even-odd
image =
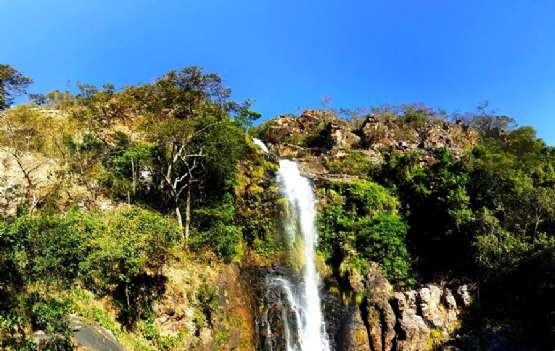
[[[295,326],[297,329],[284,331],[286,347],[288,351],[328,351],[329,340],[320,310],[320,277],[315,264],[317,232],[314,193],[309,180],[301,175],[293,161],[279,161],[278,184],[288,201],[284,227],[291,263],[302,272],[299,282],[284,277],[275,277],[272,281],[282,290],[294,316],[294,323],[286,320],[284,328]],[[296,340],[291,335],[295,335]]]

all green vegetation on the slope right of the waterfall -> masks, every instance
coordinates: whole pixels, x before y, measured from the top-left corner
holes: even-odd
[[[425,140],[430,126],[445,128],[445,116],[425,108],[374,113],[381,124],[362,145],[383,141],[384,125],[390,138],[409,143]],[[541,340],[548,348],[555,342],[548,297],[555,294],[555,149],[507,116],[481,110],[455,118],[479,136],[463,155],[385,148],[378,166],[355,149],[328,161],[329,171],[360,180],[326,186],[320,250],[339,274],[364,273],[373,260],[398,285],[475,282],[480,308],[463,328],[503,330],[515,343]]]

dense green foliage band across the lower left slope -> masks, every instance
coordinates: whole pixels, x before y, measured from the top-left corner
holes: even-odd
[[[10,320],[17,313],[23,323],[17,328],[23,328],[24,317],[30,316],[34,328],[67,334],[62,315],[70,307],[49,298],[48,290],[79,283],[113,295],[122,320],[132,323],[161,288],[159,270],[177,236],[171,221],[137,208],[101,215],[72,210],[5,221],[0,228],[5,272],[0,318]]]

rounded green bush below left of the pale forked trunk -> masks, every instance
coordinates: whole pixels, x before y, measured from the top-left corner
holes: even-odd
[[[86,286],[112,294],[120,320],[132,326],[148,316],[164,291],[160,270],[176,245],[179,228],[160,214],[137,207],[104,218],[105,230],[91,241],[92,252],[80,264]]]

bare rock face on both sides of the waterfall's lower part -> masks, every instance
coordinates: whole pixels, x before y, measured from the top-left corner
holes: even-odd
[[[251,270],[249,286],[255,306],[257,350],[285,350],[284,323],[289,306],[278,289],[263,284],[281,267]],[[426,351],[442,349],[460,325],[459,316],[472,301],[471,289],[426,284],[394,292],[376,264],[366,276],[348,276],[354,296],[342,303],[323,292],[322,312],[330,345],[337,351]],[[447,350],[448,348],[443,348]]]

